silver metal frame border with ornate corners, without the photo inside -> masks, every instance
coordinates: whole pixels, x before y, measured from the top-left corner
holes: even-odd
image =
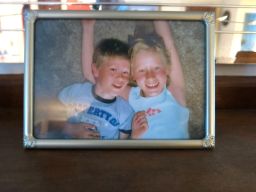
[[[25,148],[214,148],[215,146],[215,16],[211,12],[26,11],[24,74]],[[37,139],[33,136],[34,24],[38,18],[201,20],[206,26],[205,137],[199,140]]]

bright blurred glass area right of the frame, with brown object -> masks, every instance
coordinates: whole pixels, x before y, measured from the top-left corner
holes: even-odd
[[[256,9],[222,8],[219,13],[216,62],[256,64]]]

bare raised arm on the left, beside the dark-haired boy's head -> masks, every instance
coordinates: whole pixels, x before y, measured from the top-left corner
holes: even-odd
[[[95,20],[82,21],[82,69],[84,78],[91,83],[95,83],[92,73],[94,24]]]

